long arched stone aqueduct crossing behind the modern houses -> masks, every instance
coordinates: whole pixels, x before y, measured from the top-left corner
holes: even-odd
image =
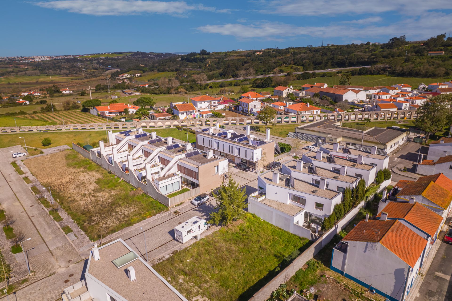
[[[321,119],[335,121],[360,121],[365,118],[371,120],[403,120],[416,118],[416,110],[403,111],[383,111],[383,112],[351,112],[351,113],[320,113],[312,115],[278,115],[274,119],[275,123],[307,123],[319,121]],[[219,122],[220,125],[237,124],[260,124],[255,116],[238,116],[228,118],[190,118],[184,120],[142,120],[133,122],[104,122],[85,124],[65,124],[52,126],[21,126],[21,127],[0,127],[0,133],[11,132],[41,132],[41,131],[64,131],[64,130],[108,130],[108,129],[128,129],[128,128],[156,128],[156,127],[205,127],[212,126]]]

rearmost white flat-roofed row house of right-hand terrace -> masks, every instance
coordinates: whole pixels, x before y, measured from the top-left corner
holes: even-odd
[[[385,169],[389,164],[389,156],[377,154],[377,146],[375,145],[372,146],[370,152],[367,152],[334,142],[333,144],[326,143],[321,145],[320,150],[325,154],[335,155],[354,162],[358,162],[358,157],[361,156],[364,164],[376,166],[377,170]]]

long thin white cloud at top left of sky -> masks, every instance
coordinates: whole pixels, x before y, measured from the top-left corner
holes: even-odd
[[[130,14],[186,14],[193,10],[226,13],[229,9],[216,9],[202,4],[188,5],[185,1],[152,0],[52,0],[35,2],[35,5],[49,9],[67,10],[71,13],[96,16]]]

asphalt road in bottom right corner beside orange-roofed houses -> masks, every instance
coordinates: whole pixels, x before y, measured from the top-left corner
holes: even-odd
[[[444,232],[439,238],[443,239]],[[438,248],[433,262],[424,276],[414,301],[450,301],[452,300],[452,245],[444,241]]]

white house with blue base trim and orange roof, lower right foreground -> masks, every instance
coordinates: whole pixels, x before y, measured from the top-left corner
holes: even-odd
[[[333,248],[331,270],[387,300],[405,301],[427,244],[398,220],[366,217]]]

